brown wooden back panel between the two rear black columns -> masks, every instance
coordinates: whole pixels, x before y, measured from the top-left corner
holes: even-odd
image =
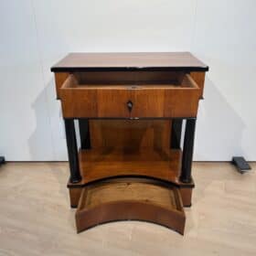
[[[170,148],[171,121],[90,120],[91,147]]]

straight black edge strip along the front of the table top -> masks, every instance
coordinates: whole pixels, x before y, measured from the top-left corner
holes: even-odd
[[[108,68],[99,68],[99,67],[51,67],[51,72],[82,72],[82,71],[198,71],[198,72],[207,72],[208,66],[206,67],[108,67]]]

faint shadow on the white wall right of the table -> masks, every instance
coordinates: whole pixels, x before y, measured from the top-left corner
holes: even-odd
[[[227,161],[232,155],[243,155],[241,147],[245,123],[208,78],[204,101],[200,101],[194,160]]]

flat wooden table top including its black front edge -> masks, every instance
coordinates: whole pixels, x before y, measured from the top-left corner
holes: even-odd
[[[185,70],[208,71],[190,52],[69,53],[51,68],[53,72],[82,70]]]

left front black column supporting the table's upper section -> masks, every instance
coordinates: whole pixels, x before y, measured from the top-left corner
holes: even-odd
[[[64,119],[64,123],[69,155],[70,182],[78,183],[81,180],[81,176],[74,120]]]

